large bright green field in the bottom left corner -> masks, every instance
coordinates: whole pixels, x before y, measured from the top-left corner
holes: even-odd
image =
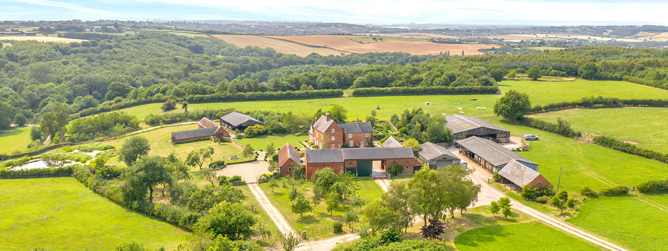
[[[176,250],[190,235],[126,210],[74,178],[0,180],[0,249],[114,250],[136,241]]]

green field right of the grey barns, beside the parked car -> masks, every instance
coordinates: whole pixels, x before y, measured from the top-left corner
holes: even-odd
[[[559,178],[559,168],[563,166],[561,189],[568,192],[577,192],[583,186],[595,190],[615,185],[635,186],[646,180],[666,178],[668,172],[668,164],[581,143],[495,116],[482,118],[510,130],[512,136],[539,136],[540,140],[530,143],[530,151],[518,154],[536,162],[538,172],[554,186]]]

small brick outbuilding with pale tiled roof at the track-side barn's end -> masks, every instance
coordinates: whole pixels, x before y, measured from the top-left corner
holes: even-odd
[[[524,164],[512,160],[504,166],[499,172],[498,176],[502,184],[510,184],[516,186],[515,189],[522,188],[527,184],[539,188],[552,187],[540,173],[524,166]]]

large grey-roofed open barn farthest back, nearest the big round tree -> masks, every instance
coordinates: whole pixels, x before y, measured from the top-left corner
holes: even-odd
[[[452,129],[452,142],[476,136],[497,143],[510,142],[510,131],[477,117],[467,117],[459,114],[446,116],[448,127]]]

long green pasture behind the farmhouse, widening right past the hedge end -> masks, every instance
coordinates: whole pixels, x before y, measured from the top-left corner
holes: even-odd
[[[533,105],[546,105],[562,101],[575,101],[585,96],[602,95],[604,97],[619,98],[648,98],[665,99],[668,90],[639,85],[624,81],[589,81],[577,79],[575,81],[524,81],[509,80],[501,81],[500,89],[508,91],[517,89],[524,91],[531,97]],[[494,103],[500,95],[415,95],[415,96],[382,96],[382,97],[338,97],[328,99],[299,99],[279,101],[244,101],[229,103],[191,103],[188,109],[218,109],[234,108],[239,111],[271,110],[293,113],[314,114],[318,109],[327,110],[333,103],[339,103],[348,110],[348,120],[353,121],[355,117],[360,119],[369,115],[371,109],[380,105],[377,110],[377,119],[389,119],[392,114],[401,113],[404,109],[422,107],[429,113],[460,113],[464,115],[490,115],[494,111]],[[476,98],[477,101],[470,99]],[[425,105],[429,101],[430,105]],[[162,113],[162,103],[150,103],[122,109],[130,114],[136,115],[138,119],[151,114]],[[458,109],[462,107],[462,109]],[[476,107],[487,107],[488,109],[476,109]],[[169,112],[181,112],[176,109]]]

